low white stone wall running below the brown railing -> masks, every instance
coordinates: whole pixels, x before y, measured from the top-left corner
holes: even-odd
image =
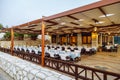
[[[75,80],[3,52],[0,52],[0,68],[15,80]]]

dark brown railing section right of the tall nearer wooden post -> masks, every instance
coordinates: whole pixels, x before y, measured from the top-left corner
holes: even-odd
[[[45,65],[55,70],[75,76],[75,79],[83,80],[119,80],[120,74],[98,70],[82,65],[68,63],[51,58],[45,58]]]

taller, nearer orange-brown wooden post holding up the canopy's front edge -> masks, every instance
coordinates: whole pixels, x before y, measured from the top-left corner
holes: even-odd
[[[44,21],[42,21],[42,63],[41,65],[44,67],[45,63],[44,63],[44,57],[45,57],[45,53],[44,53],[44,45],[45,45],[45,24]]]

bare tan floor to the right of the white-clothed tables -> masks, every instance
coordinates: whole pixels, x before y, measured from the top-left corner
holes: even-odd
[[[77,64],[111,71],[120,74],[120,51],[116,52],[97,52],[92,56],[82,56]]]

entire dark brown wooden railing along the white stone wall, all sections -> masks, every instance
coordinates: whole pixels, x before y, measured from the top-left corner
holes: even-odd
[[[0,48],[3,52],[10,52],[9,49]],[[35,54],[29,54],[24,53],[20,51],[14,52],[16,56],[19,56],[23,59],[35,62],[40,64],[41,63],[41,57]],[[45,66],[55,69],[57,71],[69,74],[73,77],[75,77],[76,80],[82,79],[82,80],[120,80],[120,74],[108,72],[104,70],[98,70],[95,68],[77,65],[74,63],[62,61],[62,60],[56,60],[52,58],[45,57]]]

